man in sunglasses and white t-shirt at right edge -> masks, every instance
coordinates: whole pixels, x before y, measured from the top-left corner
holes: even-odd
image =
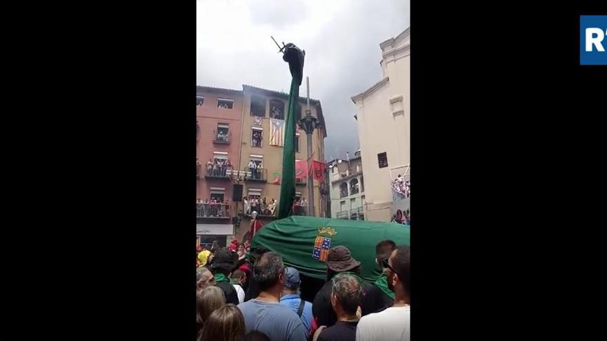
[[[356,341],[410,339],[411,266],[409,247],[397,247],[386,262],[388,288],[394,291],[392,307],[363,316],[357,325]]]

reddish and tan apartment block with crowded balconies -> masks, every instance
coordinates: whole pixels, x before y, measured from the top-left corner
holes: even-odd
[[[250,85],[243,85],[242,90],[197,86],[196,94],[197,198],[226,203],[197,205],[197,236],[202,244],[217,240],[219,245],[229,245],[234,236],[243,240],[250,226],[243,202],[232,198],[235,184],[243,185],[241,200],[266,198],[269,204],[272,198],[279,199],[283,149],[277,145],[281,144],[277,138],[270,141],[270,125],[272,119],[285,118],[288,94]],[[306,99],[300,97],[297,120],[305,115],[305,110]],[[310,111],[324,127],[320,101],[310,99]],[[296,136],[295,158],[305,161],[306,133],[300,131]],[[324,128],[312,134],[314,160],[324,161],[326,136]],[[224,166],[215,166],[216,163]],[[255,165],[255,169],[250,165]],[[315,216],[325,216],[326,199],[320,195],[319,182],[315,180],[313,185]],[[307,186],[305,178],[297,180],[299,198],[308,196]],[[258,219],[266,224],[275,217],[260,215]]]

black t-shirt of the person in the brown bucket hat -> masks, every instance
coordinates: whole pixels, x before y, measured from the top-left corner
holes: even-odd
[[[317,325],[331,327],[337,322],[337,316],[333,307],[331,307],[331,281],[328,281],[318,291],[314,302],[312,302],[312,315],[317,318]],[[365,316],[369,313],[375,313],[379,309],[379,292],[375,290],[375,285],[364,282],[364,297],[361,302],[361,312]]]

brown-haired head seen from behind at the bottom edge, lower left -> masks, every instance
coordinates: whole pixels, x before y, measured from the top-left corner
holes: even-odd
[[[240,309],[234,304],[226,304],[208,316],[198,340],[242,341],[244,331],[244,317]]]

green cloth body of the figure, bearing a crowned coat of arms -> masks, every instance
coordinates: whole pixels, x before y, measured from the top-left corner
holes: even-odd
[[[312,258],[312,251],[317,236],[330,238],[330,247],[344,245],[350,249],[352,257],[361,262],[361,277],[374,283],[381,275],[375,263],[375,245],[384,239],[394,240],[396,245],[410,245],[409,234],[409,227],[396,223],[290,216],[264,225],[252,239],[251,247],[276,251],[286,267],[324,280],[326,263]]]

